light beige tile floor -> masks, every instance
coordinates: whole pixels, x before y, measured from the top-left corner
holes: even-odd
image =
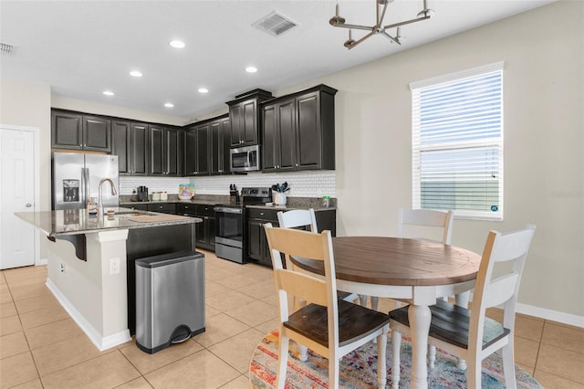
[[[204,254],[206,331],[152,355],[134,342],[99,352],[45,286],[45,267],[3,270],[0,388],[249,387],[251,352],[276,328],[271,269]],[[515,342],[516,363],[545,387],[584,389],[583,329],[518,315]]]

